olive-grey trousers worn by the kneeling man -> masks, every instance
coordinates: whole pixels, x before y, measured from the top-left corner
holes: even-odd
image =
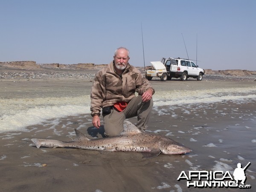
[[[131,99],[122,112],[112,108],[110,114],[103,115],[105,136],[113,137],[119,135],[124,130],[124,120],[134,116],[137,116],[138,119],[137,128],[145,130],[152,107],[153,99],[148,102],[142,102],[141,96],[137,96]]]

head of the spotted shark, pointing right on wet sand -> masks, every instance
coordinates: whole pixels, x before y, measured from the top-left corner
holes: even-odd
[[[159,149],[161,154],[185,154],[192,151],[190,148],[180,145],[176,142],[160,142]]]

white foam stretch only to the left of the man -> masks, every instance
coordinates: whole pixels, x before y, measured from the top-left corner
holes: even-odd
[[[0,132],[29,131],[26,127],[90,111],[90,97],[0,99]]]

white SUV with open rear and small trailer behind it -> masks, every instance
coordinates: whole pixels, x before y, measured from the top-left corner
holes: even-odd
[[[202,81],[204,69],[199,68],[193,61],[182,58],[162,58],[161,61],[150,62],[154,69],[146,70],[146,78],[151,80],[153,77],[160,77],[161,81],[167,79],[180,78],[186,81],[189,77]]]

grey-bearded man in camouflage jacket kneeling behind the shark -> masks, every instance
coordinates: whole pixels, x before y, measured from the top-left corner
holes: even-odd
[[[153,107],[154,88],[139,70],[128,63],[129,59],[129,50],[119,47],[114,60],[94,79],[90,96],[93,126],[99,128],[102,110],[106,137],[119,135],[124,120],[134,116],[137,116],[137,128],[145,130]]]

